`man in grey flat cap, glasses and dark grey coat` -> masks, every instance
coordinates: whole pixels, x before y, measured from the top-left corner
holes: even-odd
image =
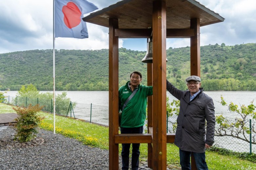
[[[186,78],[188,90],[181,91],[166,80],[166,89],[180,100],[180,113],[174,144],[180,148],[182,170],[191,170],[190,157],[193,154],[198,170],[208,170],[205,162],[205,148],[214,143],[215,115],[211,97],[203,93],[201,78]],[[205,120],[207,128],[205,132]]]

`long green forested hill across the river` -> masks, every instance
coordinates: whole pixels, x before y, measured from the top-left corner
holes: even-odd
[[[190,75],[190,47],[169,48],[167,79],[185,89]],[[147,82],[147,64],[141,59],[146,51],[119,49],[119,86],[132,71],[142,73]],[[256,43],[235,46],[201,47],[201,79],[205,90],[256,91]],[[34,84],[38,90],[53,89],[53,50],[29,50],[0,54],[0,89],[19,90]],[[108,49],[56,50],[56,90],[108,90]]]

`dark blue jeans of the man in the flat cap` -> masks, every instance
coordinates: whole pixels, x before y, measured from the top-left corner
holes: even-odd
[[[198,170],[208,170],[207,164],[205,162],[205,152],[195,153],[195,152],[188,152],[180,149],[180,164],[181,164],[182,170],[191,170],[191,164],[190,164],[191,154],[194,155]]]

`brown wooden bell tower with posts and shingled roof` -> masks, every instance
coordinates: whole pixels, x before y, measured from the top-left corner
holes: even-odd
[[[123,0],[83,18],[109,28],[109,169],[118,170],[118,144],[147,143],[148,166],[166,169],[166,38],[190,38],[191,75],[200,76],[200,26],[224,18],[194,0]],[[152,33],[153,32],[153,33]],[[153,37],[153,63],[147,63],[148,133],[118,134],[118,39]],[[133,71],[133,70],[131,70]],[[196,169],[192,158],[192,169]]]

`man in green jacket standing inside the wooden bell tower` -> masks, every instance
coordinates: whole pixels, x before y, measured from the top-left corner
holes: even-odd
[[[143,125],[146,119],[147,96],[153,94],[152,86],[140,85],[142,75],[132,72],[130,81],[119,89],[119,110],[121,114],[121,133],[143,133]],[[136,94],[129,100],[125,107],[126,99],[137,90]],[[131,144],[122,144],[122,170],[129,169],[129,153]],[[132,144],[132,170],[139,168],[139,145]]]

